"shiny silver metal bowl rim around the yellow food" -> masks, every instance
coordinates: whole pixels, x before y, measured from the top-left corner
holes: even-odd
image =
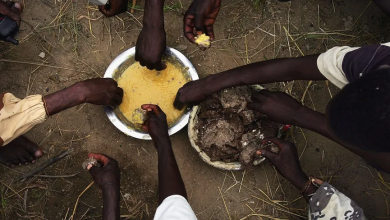
[[[182,53],[179,51],[167,47],[164,55],[163,55],[163,61],[169,61],[171,63],[177,64],[185,71],[183,71],[184,76],[193,81],[199,79],[198,73],[196,72],[194,66],[192,63],[185,57]],[[123,52],[121,55],[119,55],[117,58],[115,58],[114,61],[110,64],[110,66],[107,68],[106,73],[104,74],[104,78],[112,78],[114,80],[118,80],[119,77],[122,75],[122,73],[133,63],[135,63],[135,47],[128,49],[127,51]],[[146,104],[146,103],[145,103]],[[173,103],[172,103],[173,105]],[[175,124],[173,124],[169,130],[169,135],[175,134],[176,132],[180,131],[184,126],[187,125],[188,119],[190,116],[190,108],[187,108],[184,112],[184,114],[181,116],[180,119],[178,119]],[[136,128],[133,126],[120,112],[119,108],[112,109],[109,106],[104,107],[104,111],[107,114],[108,119],[114,124],[115,127],[117,127],[120,131],[125,133],[126,135],[129,135],[131,137],[135,137],[138,139],[143,140],[151,140],[152,138],[150,135],[139,128]]]

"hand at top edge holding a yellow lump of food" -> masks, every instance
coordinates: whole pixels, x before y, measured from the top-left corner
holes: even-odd
[[[214,40],[213,25],[217,18],[221,0],[194,0],[184,15],[184,35],[195,43],[195,37],[205,33]]]

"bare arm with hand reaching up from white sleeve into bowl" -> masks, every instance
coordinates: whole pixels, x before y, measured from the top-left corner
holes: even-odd
[[[166,115],[156,105],[143,105],[148,119],[143,126],[153,139],[158,152],[159,202],[172,195],[181,195],[187,199],[187,192],[173,154],[171,140],[168,135]]]

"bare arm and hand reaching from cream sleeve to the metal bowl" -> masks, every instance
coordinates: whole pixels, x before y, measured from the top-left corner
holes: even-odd
[[[116,106],[122,102],[123,90],[113,79],[89,79],[44,97],[48,115],[65,109],[91,103]]]

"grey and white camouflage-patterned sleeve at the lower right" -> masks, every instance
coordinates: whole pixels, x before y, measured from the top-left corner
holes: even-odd
[[[365,220],[366,217],[354,201],[324,182],[309,201],[309,219]]]

